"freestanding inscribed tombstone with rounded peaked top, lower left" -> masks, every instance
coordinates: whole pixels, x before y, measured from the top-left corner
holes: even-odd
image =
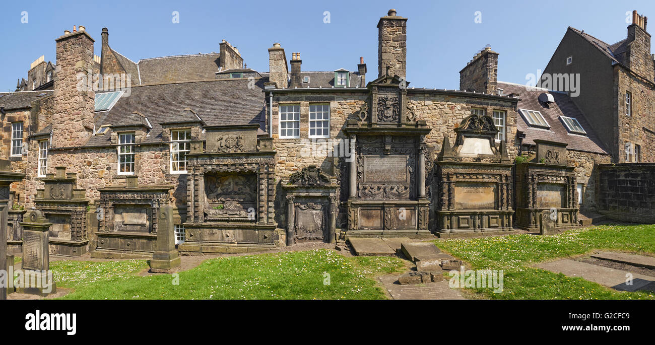
[[[16,286],[16,292],[47,296],[57,292],[57,285],[50,272],[50,255],[48,254],[48,232],[52,223],[38,210],[25,214],[23,222],[23,260],[22,280]]]

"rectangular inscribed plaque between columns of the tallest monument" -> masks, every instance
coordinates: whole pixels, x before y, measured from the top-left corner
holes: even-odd
[[[407,156],[364,156],[365,183],[409,183]]]

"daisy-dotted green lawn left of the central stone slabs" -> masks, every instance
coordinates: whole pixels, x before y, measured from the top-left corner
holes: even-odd
[[[397,258],[326,249],[210,259],[179,276],[135,276],[143,260],[50,267],[58,286],[74,289],[62,299],[384,299],[373,276],[404,268]]]

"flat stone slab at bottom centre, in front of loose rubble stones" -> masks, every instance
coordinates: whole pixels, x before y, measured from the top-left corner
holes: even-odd
[[[393,275],[381,276],[379,280],[393,299],[464,299],[457,289],[448,287],[447,280],[417,285],[400,285]]]

